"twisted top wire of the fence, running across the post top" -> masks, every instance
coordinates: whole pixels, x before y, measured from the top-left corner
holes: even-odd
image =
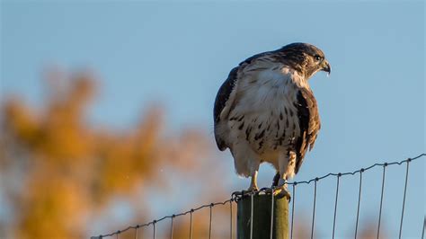
[[[323,179],[325,179],[327,177],[330,177],[330,176],[336,176],[337,177],[337,176],[345,176],[345,175],[355,175],[357,173],[360,173],[361,171],[363,173],[365,173],[366,171],[368,171],[368,170],[370,170],[370,169],[372,169],[374,167],[377,167],[377,166],[384,166],[384,165],[386,165],[386,167],[387,167],[387,166],[395,165],[395,164],[401,165],[401,164],[404,164],[404,163],[406,163],[408,161],[410,161],[411,163],[413,163],[414,160],[416,160],[418,158],[421,158],[423,156],[426,156],[426,154],[423,153],[423,154],[417,155],[417,156],[415,156],[413,158],[407,158],[407,159],[405,159],[403,161],[400,161],[400,162],[383,163],[383,164],[373,164],[371,166],[368,166],[367,168],[361,168],[361,169],[359,169],[357,171],[354,171],[354,172],[348,172],[348,173],[328,173],[328,174],[326,174],[326,175],[324,175],[322,177],[316,177],[316,178],[308,180],[308,181],[293,181],[293,182],[286,182],[286,183],[288,185],[297,185],[297,184],[301,184],[301,183],[309,184],[309,183],[311,183],[313,181],[323,180]],[[161,217],[158,220],[153,220],[151,222],[147,222],[146,224],[137,225],[137,226],[128,226],[127,228],[125,228],[123,230],[119,230],[119,231],[113,232],[111,234],[97,235],[97,236],[92,236],[91,238],[94,239],[94,238],[108,237],[108,236],[112,236],[112,235],[120,235],[121,233],[124,233],[124,232],[128,231],[129,229],[137,229],[137,228],[144,227],[144,226],[154,225],[155,223],[159,223],[159,222],[163,221],[166,218],[184,216],[184,215],[187,215],[188,213],[200,210],[202,208],[209,208],[209,207],[214,207],[214,206],[217,206],[217,205],[226,205],[226,203],[228,203],[228,202],[232,203],[233,201],[238,201],[239,199],[242,199],[244,196],[251,196],[252,194],[259,194],[261,192],[262,193],[269,193],[269,192],[271,192],[271,190],[274,190],[274,189],[275,189],[275,187],[272,187],[272,188],[262,188],[261,190],[258,190],[258,191],[244,191],[244,190],[243,191],[237,191],[237,192],[232,193],[231,199],[226,199],[225,201],[222,201],[222,202],[215,202],[215,203],[205,204],[205,205],[202,205],[202,206],[200,206],[198,208],[191,208],[190,210],[182,212],[182,213],[179,213],[179,214],[173,214],[173,215],[170,215],[170,216]]]

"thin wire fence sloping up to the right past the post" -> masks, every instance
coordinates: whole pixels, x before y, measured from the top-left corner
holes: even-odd
[[[403,165],[405,164],[405,179],[404,179],[404,198],[403,198],[403,202],[402,202],[402,209],[401,209],[401,219],[400,219],[400,223],[399,223],[399,238],[402,238],[402,233],[403,233],[403,225],[404,225],[404,211],[405,211],[405,199],[406,199],[406,192],[407,192],[407,185],[408,185],[408,180],[409,180],[409,173],[410,173],[410,164],[413,163],[413,161],[416,161],[420,158],[426,158],[425,157],[426,154],[421,154],[421,155],[417,155],[413,158],[408,158],[405,159],[403,161],[400,162],[393,162],[393,163],[383,163],[383,164],[373,164],[370,165],[366,168],[361,168],[359,170],[356,170],[354,172],[349,172],[349,173],[328,173],[322,177],[316,177],[314,179],[308,180],[308,181],[292,181],[292,182],[288,182],[288,185],[291,185],[291,190],[292,190],[292,208],[291,208],[291,224],[290,224],[290,228],[289,228],[289,235],[290,238],[293,238],[293,227],[294,227],[294,217],[295,217],[295,201],[296,201],[296,192],[297,192],[297,185],[299,184],[310,184],[310,183],[314,183],[314,199],[313,199],[313,211],[312,211],[312,221],[311,221],[311,232],[310,232],[310,238],[314,238],[314,233],[315,233],[315,206],[316,206],[316,194],[317,194],[317,182],[324,180],[325,178],[329,178],[329,177],[336,177],[336,190],[335,190],[335,197],[334,197],[334,209],[333,209],[333,238],[335,235],[335,229],[336,229],[336,215],[337,215],[337,210],[338,210],[338,202],[339,202],[339,188],[340,188],[340,179],[343,176],[354,176],[356,174],[359,174],[359,190],[358,190],[358,204],[357,204],[357,216],[356,216],[356,224],[355,224],[355,231],[354,231],[354,238],[357,238],[357,236],[359,236],[359,208],[360,208],[360,204],[361,204],[361,195],[362,195],[362,190],[363,190],[363,184],[362,184],[362,178],[363,178],[363,174],[366,173],[367,171],[371,170],[372,168],[375,167],[382,167],[382,177],[381,177],[381,193],[380,193],[380,206],[379,206],[379,211],[378,211],[378,221],[377,221],[377,238],[379,238],[380,236],[380,226],[381,226],[381,222],[382,222],[382,208],[383,208],[383,201],[384,201],[384,191],[385,191],[385,184],[386,184],[386,168],[389,166],[393,166],[393,165]],[[250,235],[253,234],[253,195],[256,194],[271,194],[273,197],[273,192],[274,190],[276,190],[274,187],[272,188],[262,188],[261,190],[258,191],[238,191],[238,192],[234,192],[231,195],[230,199],[226,199],[224,201],[221,202],[214,202],[214,203],[210,203],[210,204],[205,204],[202,205],[198,208],[191,208],[188,211],[179,213],[179,214],[173,214],[170,216],[165,216],[165,217],[161,217],[159,219],[155,219],[153,221],[147,222],[146,224],[142,224],[142,225],[136,225],[136,226],[128,226],[125,229],[122,230],[118,230],[115,232],[112,232],[110,234],[105,234],[105,235],[96,235],[96,236],[92,236],[92,239],[102,239],[105,237],[110,237],[110,236],[115,236],[115,238],[120,238],[120,235],[129,231],[129,230],[134,230],[135,232],[135,238],[138,239],[138,232],[141,228],[146,228],[149,226],[152,226],[152,230],[153,230],[153,238],[155,239],[156,236],[156,225],[161,222],[164,221],[165,219],[170,219],[171,220],[171,228],[170,228],[170,237],[171,239],[173,239],[173,221],[175,220],[176,217],[182,217],[185,215],[190,215],[190,228],[189,228],[189,238],[192,239],[192,225],[193,225],[193,220],[192,220],[192,214],[202,208],[209,208],[209,239],[211,238],[211,231],[212,231],[212,213],[213,213],[213,208],[215,206],[218,205],[229,205],[229,209],[230,209],[230,213],[229,213],[229,238],[232,239],[233,238],[233,204],[235,202],[237,202],[238,200],[242,199],[243,197],[251,197],[251,207],[252,207],[252,211],[251,211],[251,226],[250,226],[250,230],[251,233]],[[274,200],[271,200],[271,212],[273,212],[273,207],[274,207]],[[272,222],[273,222],[273,213],[271,213],[271,238],[272,238]],[[422,239],[424,238],[424,231],[425,231],[425,226],[426,226],[426,218],[423,218],[423,226],[422,226]]]

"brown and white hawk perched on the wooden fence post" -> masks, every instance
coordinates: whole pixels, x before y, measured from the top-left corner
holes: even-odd
[[[321,49],[292,43],[247,58],[229,73],[214,107],[217,147],[229,148],[235,171],[251,177],[248,190],[258,190],[263,162],[277,173],[272,186],[287,195],[286,181],[312,149],[320,118],[308,79],[318,71],[331,72]]]

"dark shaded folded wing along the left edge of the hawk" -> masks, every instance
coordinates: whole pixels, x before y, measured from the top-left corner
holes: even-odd
[[[213,117],[215,120],[215,139],[217,147],[224,151],[226,149],[225,140],[220,137],[218,125],[221,120],[226,119],[229,112],[234,107],[234,98],[235,98],[235,85],[238,81],[238,72],[240,69],[243,69],[245,66],[250,65],[253,60],[261,58],[263,56],[269,55],[273,51],[263,52],[257,55],[254,55],[251,58],[245,59],[238,66],[234,67],[229,75],[227,76],[226,81],[220,86],[219,91],[216,95],[215,107],[213,110]]]

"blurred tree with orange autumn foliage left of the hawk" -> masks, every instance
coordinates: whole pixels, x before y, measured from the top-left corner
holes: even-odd
[[[41,109],[21,98],[3,102],[0,180],[12,215],[7,223],[0,220],[0,228],[13,228],[4,236],[87,237],[90,219],[100,219],[119,195],[138,212],[128,223],[141,223],[148,219],[140,217],[148,209],[143,207],[146,190],[155,187],[166,193],[175,187],[164,179],[163,170],[208,180],[206,162],[199,158],[211,152],[200,130],[164,134],[159,107],[146,111],[135,128],[124,132],[94,128],[84,118],[96,88],[93,77],[53,72],[46,78],[48,97]],[[221,187],[210,186],[202,197]],[[203,230],[208,224],[197,221]],[[119,229],[109,228],[102,233]]]

